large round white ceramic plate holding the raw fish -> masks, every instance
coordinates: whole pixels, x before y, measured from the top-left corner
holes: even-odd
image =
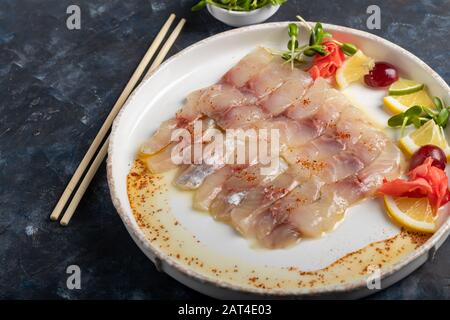
[[[367,295],[373,292],[367,287],[371,273],[361,270],[379,262],[381,287],[389,286],[426,261],[429,251],[437,249],[448,236],[449,222],[424,245],[415,248],[406,244],[404,252],[398,248],[394,252],[386,247],[390,242],[383,240],[393,238],[394,246],[405,246],[399,238],[400,229],[386,217],[379,201],[368,200],[352,207],[337,229],[320,239],[301,241],[287,249],[263,250],[227,225],[192,210],[191,195],[175,191],[170,183],[152,200],[161,209],[159,216],[147,221],[163,225],[170,237],[168,245],[152,238],[154,229],[139,227],[130,207],[126,177],[140,143],[161,121],[174,115],[189,92],[215,83],[256,46],[283,49],[288,40],[286,26],[287,22],[268,23],[218,34],[173,56],[146,78],[114,122],[108,157],[111,196],[131,236],[157,267],[205,294],[218,298]],[[432,95],[448,101],[450,90],[445,81],[406,50],[366,32],[335,25],[324,27],[337,39],[355,43],[375,60],[395,64],[403,77],[425,83]],[[345,93],[375,122],[385,126],[389,117],[381,106],[385,91],[356,84]],[[169,181],[170,177],[165,179]],[[380,254],[373,258],[380,251],[386,259]],[[362,262],[355,266],[349,257]]]

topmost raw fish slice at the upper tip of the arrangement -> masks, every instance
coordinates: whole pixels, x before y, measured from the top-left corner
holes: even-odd
[[[258,74],[273,59],[273,55],[266,49],[259,47],[231,68],[222,78],[222,81],[238,88],[245,86],[247,82]]]

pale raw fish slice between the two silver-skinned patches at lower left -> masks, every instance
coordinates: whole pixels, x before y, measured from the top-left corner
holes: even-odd
[[[194,209],[208,211],[211,202],[222,191],[223,184],[230,174],[231,167],[225,166],[206,177],[194,194]]]

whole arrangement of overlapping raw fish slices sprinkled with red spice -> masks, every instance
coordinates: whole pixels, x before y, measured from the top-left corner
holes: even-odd
[[[169,163],[172,130],[192,131],[199,119],[208,122],[202,134],[211,128],[277,129],[277,165],[262,174],[262,164],[250,155],[244,164]],[[193,144],[207,145],[196,139]],[[245,56],[217,84],[189,94],[140,155],[154,173],[178,167],[174,184],[195,192],[194,208],[268,248],[332,230],[348,207],[403,171],[398,148],[341,92],[323,78],[313,81],[291,70],[264,48]],[[202,160],[234,156],[203,154]]]

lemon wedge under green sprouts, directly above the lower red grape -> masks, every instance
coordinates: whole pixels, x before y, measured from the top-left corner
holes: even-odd
[[[433,120],[429,120],[416,131],[401,138],[399,144],[410,156],[421,146],[433,144],[441,148],[448,159],[450,158],[450,147],[448,146],[447,140],[445,140],[444,130]]]

